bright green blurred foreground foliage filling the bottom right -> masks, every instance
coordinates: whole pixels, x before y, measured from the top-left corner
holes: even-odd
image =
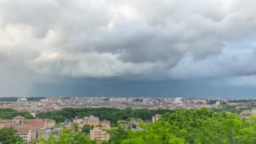
[[[113,136],[110,144],[255,144],[256,117],[240,119],[224,111],[214,113],[206,108],[195,111],[180,109],[165,113],[152,125],[141,125],[143,131],[118,128],[122,136]]]

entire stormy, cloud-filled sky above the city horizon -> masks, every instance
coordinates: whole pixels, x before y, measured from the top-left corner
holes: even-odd
[[[0,96],[256,98],[255,0],[0,0]]]

